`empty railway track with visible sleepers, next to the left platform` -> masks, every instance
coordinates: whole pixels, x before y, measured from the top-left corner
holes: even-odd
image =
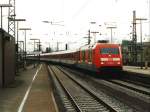
[[[70,79],[64,72],[61,72],[56,67],[51,67],[53,74],[60,83],[61,87],[65,91],[71,105],[77,112],[82,111],[101,111],[101,112],[116,112],[115,109],[107,105],[105,102],[101,101],[96,95],[91,91],[84,88],[79,83]],[[67,107],[73,110],[71,107]]]

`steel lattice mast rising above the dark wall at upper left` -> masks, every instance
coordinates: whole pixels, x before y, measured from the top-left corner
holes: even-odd
[[[9,4],[11,4],[12,7],[9,7],[8,17],[15,19],[15,0],[9,0]],[[15,21],[12,21],[11,19],[8,19],[8,33],[15,37]]]

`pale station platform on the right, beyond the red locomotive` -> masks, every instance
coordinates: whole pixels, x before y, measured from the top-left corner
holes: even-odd
[[[150,67],[148,69],[145,69],[145,67],[141,69],[141,67],[136,66],[123,66],[123,70],[127,72],[139,73],[150,76]]]

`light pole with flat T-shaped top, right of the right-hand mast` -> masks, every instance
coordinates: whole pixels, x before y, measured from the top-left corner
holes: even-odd
[[[136,18],[136,20],[140,21],[140,40],[141,40],[141,69],[143,68],[143,43],[142,43],[142,21],[146,21],[146,18]]]

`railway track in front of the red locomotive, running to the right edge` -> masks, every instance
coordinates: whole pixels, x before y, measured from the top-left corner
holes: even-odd
[[[107,93],[115,96],[116,99],[123,101],[124,103],[130,105],[132,108],[142,112],[149,112],[150,110],[150,95],[149,90],[137,85],[131,85],[129,83],[124,83],[120,80],[97,80],[93,81],[99,85],[104,86]],[[112,93],[111,93],[112,92]],[[115,94],[113,94],[115,93]]]

